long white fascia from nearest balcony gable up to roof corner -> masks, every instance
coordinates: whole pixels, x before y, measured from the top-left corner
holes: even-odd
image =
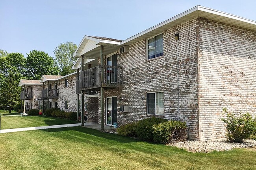
[[[158,25],[156,25],[156,26],[153,26],[153,27],[151,27],[151,28],[149,28],[149,29],[146,29],[145,31],[142,31],[141,33],[138,33],[138,34],[136,34],[136,35],[134,35],[134,36],[132,36],[132,37],[130,37],[130,38],[127,38],[126,40],[124,40],[124,41],[121,42],[121,45],[122,45],[122,44],[125,44],[126,42],[129,42],[129,41],[131,41],[131,40],[133,40],[133,39],[135,39],[135,38],[138,38],[138,37],[140,37],[140,36],[142,36],[142,35],[144,35],[144,34],[150,32],[150,31],[153,31],[154,29],[157,29],[157,28],[159,28],[159,27],[161,27],[161,26],[164,26],[164,25],[166,25],[166,24],[169,24],[170,22],[173,22],[174,20],[177,20],[177,19],[179,19],[179,18],[182,18],[183,16],[189,15],[190,13],[193,13],[193,12],[195,12],[195,11],[197,11],[197,10],[198,10],[198,6],[195,6],[195,7],[191,8],[191,9],[189,9],[189,10],[187,10],[187,11],[185,11],[185,12],[179,14],[179,15],[176,15],[176,16],[174,16],[174,17],[172,17],[172,18],[170,18],[170,19],[168,19],[168,20],[166,20],[166,21],[164,21],[164,22],[161,22],[160,24],[158,24]]]

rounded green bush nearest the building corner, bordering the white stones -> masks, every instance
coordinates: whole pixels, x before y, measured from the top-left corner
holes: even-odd
[[[186,122],[167,121],[159,124],[154,124],[153,141],[155,143],[172,143],[187,140]]]

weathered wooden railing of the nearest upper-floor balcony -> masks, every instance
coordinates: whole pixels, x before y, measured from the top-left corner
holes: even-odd
[[[101,79],[103,67],[103,81]],[[99,65],[79,73],[79,89],[121,88],[123,86],[123,67]],[[78,84],[77,84],[78,85]]]

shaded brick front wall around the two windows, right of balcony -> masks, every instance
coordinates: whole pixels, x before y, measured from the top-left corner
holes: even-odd
[[[151,117],[147,115],[147,92],[153,91],[164,93],[164,115],[155,116],[178,120],[177,41],[174,40],[174,34],[180,33],[180,120],[187,122],[190,139],[198,139],[197,25],[198,20],[193,19],[164,31],[163,57],[147,60],[147,40],[130,45],[129,52],[121,54],[117,62],[124,67],[124,86],[121,89],[105,90],[104,94],[105,97],[117,96],[118,107],[130,107],[128,113],[118,110],[118,124]],[[104,107],[105,102],[106,99]],[[98,111],[100,118],[100,105]]]

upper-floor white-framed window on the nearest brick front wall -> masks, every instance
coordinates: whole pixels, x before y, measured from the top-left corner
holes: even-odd
[[[148,60],[163,56],[163,34],[147,40]]]

